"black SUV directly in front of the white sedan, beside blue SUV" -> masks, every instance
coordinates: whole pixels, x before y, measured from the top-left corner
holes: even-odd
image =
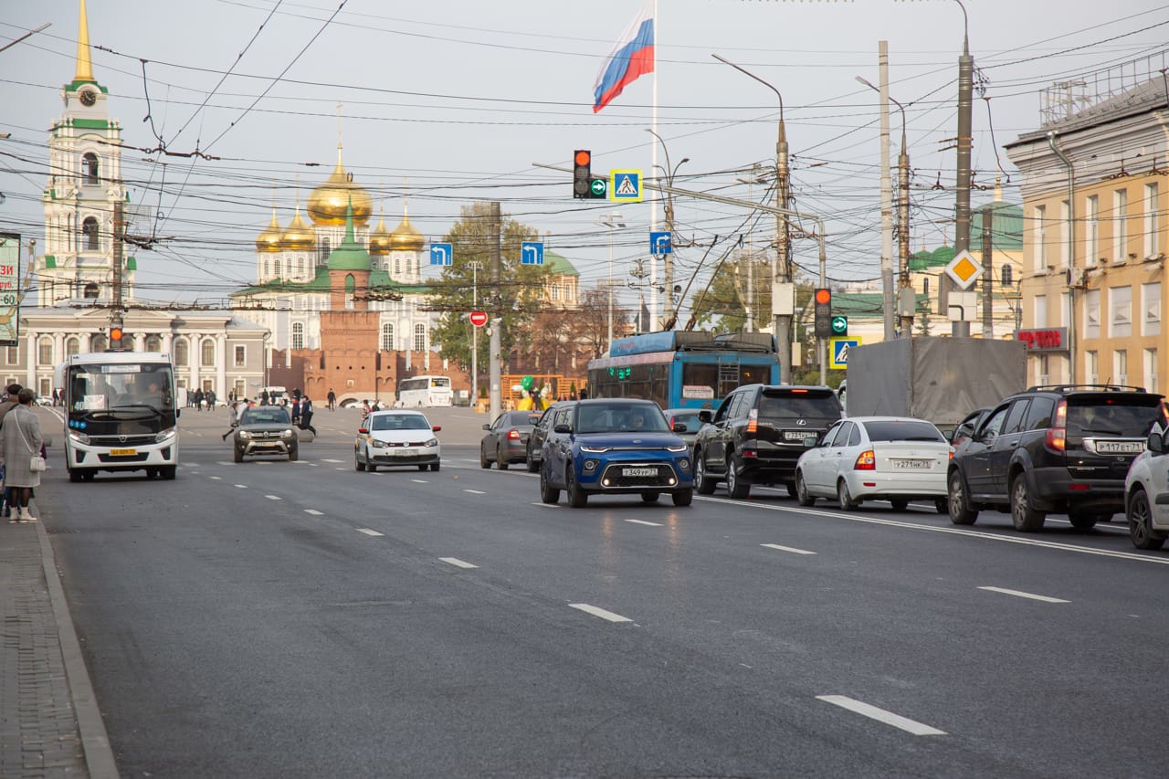
[[[782,482],[795,496],[796,461],[843,416],[831,387],[750,384],[727,395],[694,440],[694,489],[701,495],[727,483],[733,498],[752,484]]]

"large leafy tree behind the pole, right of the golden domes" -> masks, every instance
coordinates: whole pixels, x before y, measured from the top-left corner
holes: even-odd
[[[473,325],[466,313],[475,305],[473,282],[478,280],[478,310],[486,311],[490,319],[503,319],[499,332],[500,353],[506,356],[517,342],[526,343],[533,319],[539,310],[544,277],[540,266],[520,263],[520,244],[539,240],[539,233],[520,225],[506,214],[500,216],[500,264],[499,287],[491,284],[491,205],[476,202],[461,208],[462,219],[443,236],[451,243],[454,257],[443,268],[442,277],[428,282],[429,305],[443,311],[435,326],[433,339],[441,344],[444,358],[456,360],[463,367],[471,364],[471,330]],[[476,273],[471,263],[478,262]],[[485,371],[490,358],[490,338],[486,329],[479,333],[478,367]]]

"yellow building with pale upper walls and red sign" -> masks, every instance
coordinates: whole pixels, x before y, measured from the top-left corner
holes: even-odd
[[[1092,99],[1065,101],[1007,146],[1023,173],[1028,381],[1161,391],[1165,84],[1157,75]]]

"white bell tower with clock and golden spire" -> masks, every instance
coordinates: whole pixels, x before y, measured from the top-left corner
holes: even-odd
[[[37,304],[111,301],[116,254],[123,263],[123,296],[133,297],[136,261],[115,253],[113,244],[115,214],[125,213],[129,198],[122,181],[122,126],[110,118],[109,90],[94,77],[85,0],[76,71],[61,97],[64,112],[49,130],[49,178],[41,195],[44,255],[36,262]]]

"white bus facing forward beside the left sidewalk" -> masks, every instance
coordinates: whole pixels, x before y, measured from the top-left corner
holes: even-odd
[[[99,470],[174,478],[179,407],[170,354],[70,354],[56,382],[64,389],[69,481],[89,481]]]

